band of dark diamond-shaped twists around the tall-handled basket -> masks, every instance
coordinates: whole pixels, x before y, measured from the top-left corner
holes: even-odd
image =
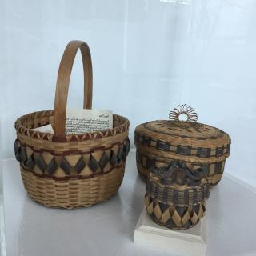
[[[54,154],[37,153],[29,147],[21,146],[18,140],[14,143],[15,156],[25,170],[39,175],[52,177],[90,176],[104,174],[121,166],[130,151],[130,141],[126,141],[110,150],[98,150],[92,154],[72,154],[55,156]]]

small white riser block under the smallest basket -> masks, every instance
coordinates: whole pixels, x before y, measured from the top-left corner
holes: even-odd
[[[134,243],[154,246],[183,256],[206,255],[206,218],[188,230],[170,230],[152,222],[146,209],[134,230]]]

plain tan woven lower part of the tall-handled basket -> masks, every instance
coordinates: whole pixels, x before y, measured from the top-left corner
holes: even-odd
[[[46,207],[73,209],[90,207],[110,199],[121,186],[125,165],[93,178],[61,181],[42,178],[21,168],[27,194]]]

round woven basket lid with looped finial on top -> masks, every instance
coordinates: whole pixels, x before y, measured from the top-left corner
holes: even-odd
[[[181,114],[187,121],[180,121]],[[187,105],[170,111],[170,120],[146,122],[136,127],[135,143],[177,154],[212,157],[230,152],[230,136],[213,126],[196,122],[197,114]]]

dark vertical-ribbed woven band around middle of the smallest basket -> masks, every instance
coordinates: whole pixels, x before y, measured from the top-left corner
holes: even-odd
[[[187,187],[177,190],[173,187],[162,186],[154,182],[151,178],[146,182],[146,192],[152,199],[158,200],[168,205],[192,206],[206,200],[210,194],[208,183],[196,187]]]

